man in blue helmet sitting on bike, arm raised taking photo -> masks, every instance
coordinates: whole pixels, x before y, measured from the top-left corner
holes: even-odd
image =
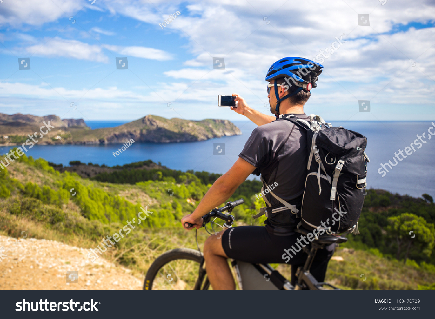
[[[311,60],[296,57],[287,57],[272,64],[266,81],[269,82],[270,110],[275,116],[251,109],[241,96],[233,94],[238,107],[231,107],[231,110],[248,117],[258,127],[231,169],[214,182],[194,212],[181,219],[183,227],[188,222],[195,225],[186,229],[200,228],[203,223],[201,216],[224,203],[252,173],[261,174],[265,185],[275,185],[273,193],[295,209],[290,210],[265,192],[263,198],[268,203],[265,226],[238,226],[206,240],[204,259],[207,276],[215,290],[235,289],[228,258],[247,263],[284,263],[284,249],[301,240],[300,234],[294,232],[300,221],[295,212],[301,209],[304,192],[307,139],[298,126],[279,118],[294,115],[309,121],[304,105],[311,96],[311,88],[317,86],[315,82],[322,68]],[[332,244],[319,249],[315,256],[310,272],[319,282],[324,281],[334,248],[335,244]],[[301,250],[290,259],[293,283],[294,269],[303,265],[306,258],[307,254]]]

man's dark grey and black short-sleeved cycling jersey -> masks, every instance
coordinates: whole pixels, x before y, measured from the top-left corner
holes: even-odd
[[[288,116],[290,114],[285,114]],[[293,114],[308,120],[309,116]],[[305,132],[287,120],[274,120],[258,126],[249,137],[239,157],[255,166],[253,174],[263,177],[276,196],[301,209],[307,172],[308,155]],[[299,219],[270,193],[265,196],[272,207],[265,224],[274,234],[291,234]],[[273,209],[273,210],[272,210]]]

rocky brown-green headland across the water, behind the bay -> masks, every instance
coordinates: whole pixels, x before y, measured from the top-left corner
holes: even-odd
[[[43,122],[48,124],[48,121],[55,128],[52,128],[38,145],[114,144],[126,143],[131,139],[136,143],[176,143],[241,135],[239,128],[228,120],[193,121],[147,115],[117,127],[91,130],[83,119],[60,119],[56,115],[0,113],[0,145],[24,143],[29,134],[39,133],[40,127],[44,126]]]

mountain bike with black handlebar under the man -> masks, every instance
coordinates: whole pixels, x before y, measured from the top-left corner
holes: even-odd
[[[231,211],[235,206],[243,203],[243,199],[238,199],[235,202],[228,202],[220,209],[213,209],[210,213],[202,217],[204,220],[202,227],[207,230],[206,225],[211,223],[211,227],[214,231],[213,224],[217,224],[214,223],[214,220],[222,219],[225,221],[223,227],[231,228],[234,223],[234,216],[231,215]],[[211,219],[213,220],[211,221]],[[191,227],[193,225],[186,223],[185,226]],[[309,230],[303,228],[295,229],[294,231],[304,235],[310,233]],[[208,230],[207,232],[210,233]],[[217,232],[214,233],[217,234]],[[210,234],[213,235],[212,233]],[[308,254],[308,257],[304,266],[298,267],[294,285],[269,264],[252,264],[232,260],[231,265],[234,267],[238,286],[243,290],[340,290],[327,282],[318,282],[314,276],[311,275],[310,268],[318,249],[322,249],[332,243],[345,243],[346,241],[346,237],[325,233],[315,238],[311,245],[304,247],[304,251]],[[157,257],[145,276],[144,290],[209,289],[210,282],[207,278],[204,257],[199,249],[198,240],[197,246],[198,250],[177,248]],[[311,246],[311,248],[309,248],[309,246]]]

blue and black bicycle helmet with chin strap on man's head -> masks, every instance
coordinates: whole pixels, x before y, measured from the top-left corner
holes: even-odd
[[[301,92],[301,90],[309,92],[311,88],[317,86],[316,81],[320,73],[322,73],[322,68],[323,65],[321,64],[298,57],[286,57],[272,64],[268,74],[266,74],[266,81],[270,82],[275,79],[284,78],[289,85],[289,90],[292,88],[291,93],[280,99],[278,96],[278,86],[275,83],[277,117],[279,116],[279,105],[282,100]]]

